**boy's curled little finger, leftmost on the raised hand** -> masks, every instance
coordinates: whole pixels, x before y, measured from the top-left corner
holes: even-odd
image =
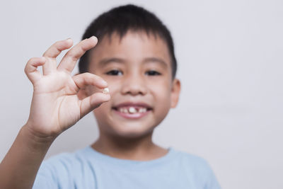
[[[44,65],[45,62],[45,57],[34,57],[28,60],[28,63],[25,65],[25,74],[32,83],[41,78],[42,75],[37,70],[37,67]]]

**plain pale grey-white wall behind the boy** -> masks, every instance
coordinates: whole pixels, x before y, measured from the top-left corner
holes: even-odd
[[[0,160],[28,119],[33,88],[23,69],[57,40],[79,42],[103,11],[130,1],[0,4]],[[156,13],[175,40],[182,91],[154,141],[204,157],[222,188],[283,188],[283,1],[133,1]],[[98,137],[93,115],[47,157]]]

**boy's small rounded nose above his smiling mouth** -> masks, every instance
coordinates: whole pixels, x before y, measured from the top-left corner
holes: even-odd
[[[122,94],[124,95],[144,96],[147,93],[146,81],[139,74],[129,74],[122,82]]]

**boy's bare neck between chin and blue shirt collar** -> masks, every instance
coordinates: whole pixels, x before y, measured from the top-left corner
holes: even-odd
[[[168,151],[152,142],[152,134],[153,132],[150,132],[142,137],[125,138],[100,132],[98,140],[91,147],[102,154],[119,159],[139,161],[157,159],[166,155]]]

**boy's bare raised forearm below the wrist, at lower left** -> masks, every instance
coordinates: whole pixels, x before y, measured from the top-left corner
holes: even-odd
[[[53,141],[53,138],[35,137],[23,126],[0,164],[0,188],[32,188]]]

